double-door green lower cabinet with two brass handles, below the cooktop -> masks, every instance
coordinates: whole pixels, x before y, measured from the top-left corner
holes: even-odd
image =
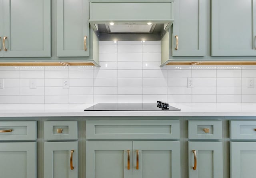
[[[86,178],[156,177],[180,178],[180,142],[86,142]]]

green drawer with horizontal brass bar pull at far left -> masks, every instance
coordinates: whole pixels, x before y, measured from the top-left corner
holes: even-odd
[[[36,140],[36,121],[0,121],[0,140]]]

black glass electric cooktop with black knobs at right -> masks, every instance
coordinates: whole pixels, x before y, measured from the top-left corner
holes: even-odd
[[[157,110],[169,110],[180,111],[178,108],[169,106],[168,103],[158,101],[157,103],[98,103],[90,108],[86,108],[84,111],[157,111]]]

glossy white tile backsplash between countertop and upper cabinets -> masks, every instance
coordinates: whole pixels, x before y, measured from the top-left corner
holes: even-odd
[[[0,104],[256,103],[256,66],[159,67],[160,58],[160,41],[100,41],[101,67],[0,67]]]

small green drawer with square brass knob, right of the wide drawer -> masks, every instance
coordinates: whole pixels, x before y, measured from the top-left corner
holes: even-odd
[[[222,121],[188,121],[188,139],[222,139]]]

